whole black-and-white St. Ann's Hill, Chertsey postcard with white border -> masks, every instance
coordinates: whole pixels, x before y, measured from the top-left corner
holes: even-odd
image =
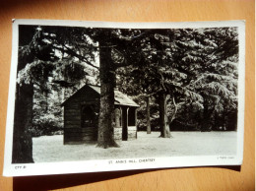
[[[245,22],[14,20],[5,176],[241,165]]]

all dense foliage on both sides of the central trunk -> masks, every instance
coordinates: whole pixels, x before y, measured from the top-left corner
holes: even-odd
[[[60,32],[49,28],[44,31],[47,32],[40,34],[44,35],[44,38],[40,37],[42,40],[36,38],[38,34],[32,37],[31,44],[35,50],[30,50],[28,45],[20,48],[22,54],[40,52],[37,57],[41,57],[41,60],[33,60],[19,73],[20,83],[33,80],[34,84],[33,126],[37,131],[34,135],[52,134],[54,130],[59,132],[63,127],[63,113],[55,105],[60,105],[65,97],[84,83],[98,84],[97,70],[84,63],[96,61],[96,42],[87,34],[81,38],[81,29],[70,31],[66,28]],[[90,32],[96,35],[96,32]],[[109,31],[108,35],[122,36],[120,45],[127,45],[122,38],[131,33],[117,30]],[[158,94],[161,91],[170,95],[167,114],[171,130],[236,129],[238,44],[235,29],[144,30],[134,33],[147,33],[134,44],[129,44],[136,47],[139,53],[127,47],[122,47],[122,51],[140,59],[133,65],[119,68],[116,75],[117,88],[141,105],[138,109],[139,129],[147,128],[148,97],[151,126],[153,130],[160,129]],[[70,34],[73,35],[70,37]],[[43,48],[36,50],[38,46]],[[55,48],[55,54],[48,46]],[[71,53],[74,47],[79,49],[77,55]],[[124,59],[116,49],[112,54],[116,63]],[[87,77],[89,73],[93,80]],[[26,78],[23,79],[23,76]]]

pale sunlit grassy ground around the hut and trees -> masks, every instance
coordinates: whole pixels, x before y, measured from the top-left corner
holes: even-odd
[[[172,138],[159,138],[159,132],[138,132],[138,139],[118,141],[120,148],[101,149],[95,144],[63,145],[63,136],[33,138],[35,162],[85,159],[129,159],[179,156],[235,155],[236,132],[172,132]]]

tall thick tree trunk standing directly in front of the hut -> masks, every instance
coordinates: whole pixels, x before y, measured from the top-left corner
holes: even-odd
[[[107,44],[100,44],[104,47]],[[118,147],[114,141],[112,125],[114,115],[115,68],[111,60],[111,49],[99,49],[100,107],[98,118],[97,147]]]

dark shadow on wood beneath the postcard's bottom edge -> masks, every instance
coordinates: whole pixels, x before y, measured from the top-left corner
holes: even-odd
[[[211,166],[210,166],[211,167]],[[240,171],[241,166],[212,166]],[[195,167],[191,167],[195,168]],[[198,167],[197,167],[198,168]],[[20,191],[40,191],[61,189],[83,184],[89,184],[109,179],[131,176],[140,173],[147,173],[160,170],[176,170],[179,168],[160,168],[160,169],[139,169],[139,170],[124,170],[124,171],[108,171],[108,172],[91,172],[91,173],[76,173],[76,174],[59,174],[59,175],[41,175],[41,176],[25,176],[13,178],[13,190]]]

